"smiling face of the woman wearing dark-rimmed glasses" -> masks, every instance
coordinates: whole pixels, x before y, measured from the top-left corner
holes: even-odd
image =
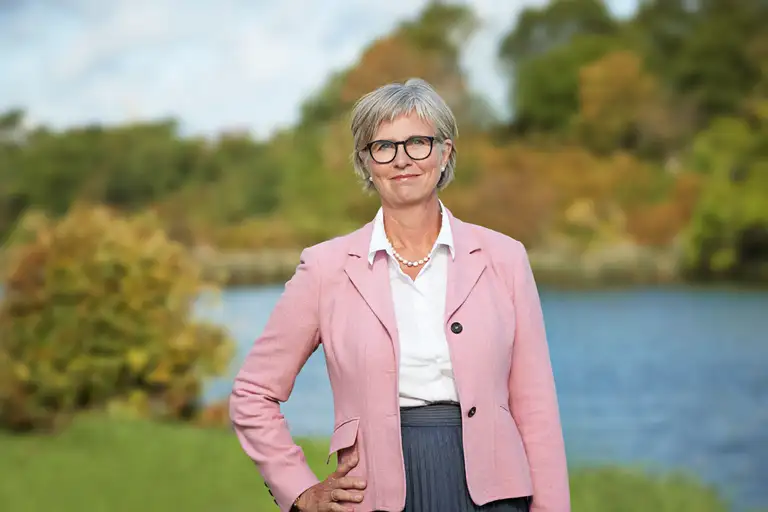
[[[383,204],[413,205],[427,201],[435,193],[440,169],[448,163],[452,142],[444,141],[441,151],[437,140],[430,143],[428,139],[434,136],[432,125],[416,114],[400,116],[379,126],[373,137],[377,142],[371,147],[375,158],[371,158],[370,153],[367,156],[368,169]],[[406,144],[395,144],[404,141]]]

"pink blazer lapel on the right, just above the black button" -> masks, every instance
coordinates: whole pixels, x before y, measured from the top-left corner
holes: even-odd
[[[456,247],[455,259],[448,263],[448,286],[445,298],[445,321],[448,323],[456,310],[467,300],[486,265],[477,235],[472,228],[453,217],[450,211],[446,213],[451,222]]]

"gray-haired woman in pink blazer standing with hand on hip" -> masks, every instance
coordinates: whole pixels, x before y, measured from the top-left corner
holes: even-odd
[[[523,246],[455,218],[456,122],[424,81],[355,105],[354,167],[381,209],[305,249],[238,373],[231,417],[282,511],[567,512],[565,449]],[[324,481],[279,402],[323,344],[333,390]],[[530,508],[529,508],[530,507]]]

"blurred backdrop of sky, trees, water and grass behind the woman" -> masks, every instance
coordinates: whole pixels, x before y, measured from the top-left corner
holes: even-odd
[[[540,287],[573,509],[768,509],[768,2],[0,1],[0,510],[274,510],[234,372],[375,214],[354,101],[459,121]],[[762,27],[762,28],[761,28]],[[283,406],[318,476],[322,350]]]

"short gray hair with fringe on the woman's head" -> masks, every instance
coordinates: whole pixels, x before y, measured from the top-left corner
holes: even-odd
[[[434,126],[436,144],[441,144],[446,139],[453,142],[451,155],[437,182],[437,188],[442,190],[453,181],[458,136],[456,118],[445,100],[429,83],[420,78],[411,78],[405,83],[391,83],[369,92],[355,103],[352,110],[351,129],[355,147],[352,163],[366,190],[373,189],[373,183],[369,180],[369,156],[361,154],[365,146],[371,142],[382,122],[392,121],[411,112],[415,112],[421,119]],[[442,156],[442,146],[438,148]]]

